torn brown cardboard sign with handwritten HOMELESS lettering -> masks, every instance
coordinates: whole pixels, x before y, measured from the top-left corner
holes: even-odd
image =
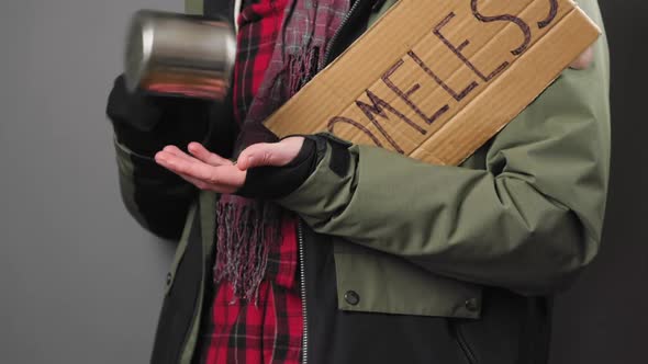
[[[265,125],[459,164],[600,33],[571,0],[400,0]]]

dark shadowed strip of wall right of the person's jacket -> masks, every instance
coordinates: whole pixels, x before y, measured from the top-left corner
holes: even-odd
[[[556,300],[551,364],[648,362],[648,2],[599,2],[612,58],[607,215],[599,257]]]

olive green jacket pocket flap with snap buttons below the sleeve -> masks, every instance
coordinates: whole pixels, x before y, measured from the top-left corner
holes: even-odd
[[[481,286],[342,239],[334,243],[342,310],[470,319],[481,315]]]

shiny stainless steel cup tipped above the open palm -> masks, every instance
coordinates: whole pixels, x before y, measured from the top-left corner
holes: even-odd
[[[141,10],[126,38],[126,87],[222,101],[235,52],[236,38],[225,21]]]

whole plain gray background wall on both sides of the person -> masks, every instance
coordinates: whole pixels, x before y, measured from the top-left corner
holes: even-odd
[[[638,361],[648,327],[640,0],[602,1],[613,47],[614,164],[605,243],[557,299],[552,364]],[[145,363],[172,243],[119,200],[103,110],[124,29],[181,0],[0,4],[0,363]],[[643,133],[641,133],[643,132]]]

